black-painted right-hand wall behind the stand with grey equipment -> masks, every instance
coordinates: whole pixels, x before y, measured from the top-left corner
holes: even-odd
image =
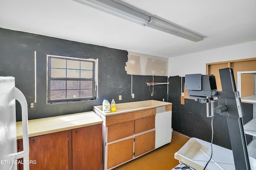
[[[172,128],[189,137],[211,142],[211,118],[206,117],[206,104],[200,104],[192,99],[185,99],[185,104],[180,104],[181,79],[179,76],[171,76],[168,79],[170,83],[168,100],[172,102]],[[217,102],[214,104],[217,106]],[[243,122],[247,123],[252,119],[253,104],[242,103],[242,107]],[[226,117],[214,115],[213,129],[213,143],[231,149]],[[246,140],[250,143],[252,136],[246,135]]]

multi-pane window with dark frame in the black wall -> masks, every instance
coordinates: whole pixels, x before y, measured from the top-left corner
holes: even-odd
[[[47,55],[47,102],[95,99],[96,60]]]

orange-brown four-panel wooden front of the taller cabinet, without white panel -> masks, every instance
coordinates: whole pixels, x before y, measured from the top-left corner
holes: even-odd
[[[102,117],[104,170],[155,149],[155,116],[156,108],[151,108]]]

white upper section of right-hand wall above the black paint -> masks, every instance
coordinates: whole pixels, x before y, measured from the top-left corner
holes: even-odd
[[[169,58],[168,77],[206,74],[206,64],[256,57],[256,41]]]

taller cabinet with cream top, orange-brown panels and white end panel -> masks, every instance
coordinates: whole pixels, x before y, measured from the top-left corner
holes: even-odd
[[[158,104],[163,103],[164,106],[160,105],[146,108],[138,106],[140,104],[137,102],[130,102],[116,104],[116,112],[106,114],[102,112],[102,106],[94,106],[94,113],[103,120],[102,139],[104,170],[116,168],[117,166],[156,149],[156,142],[158,143],[158,147],[170,143],[171,139],[168,138],[169,141],[166,139],[162,141],[162,137],[171,136],[172,104],[168,102],[156,102]],[[145,103],[141,105],[147,105]],[[154,101],[152,103],[154,103]],[[140,109],[134,110],[130,107],[131,110],[129,110],[128,106]],[[124,107],[124,109],[122,107]],[[118,112],[119,110],[122,113]],[[168,118],[158,119],[158,122],[164,125],[168,124],[168,126],[158,125],[159,127],[156,127],[156,117],[158,117],[158,113],[164,114],[164,118]],[[161,133],[162,136],[156,135],[156,129],[158,129],[158,132],[163,131]]]

